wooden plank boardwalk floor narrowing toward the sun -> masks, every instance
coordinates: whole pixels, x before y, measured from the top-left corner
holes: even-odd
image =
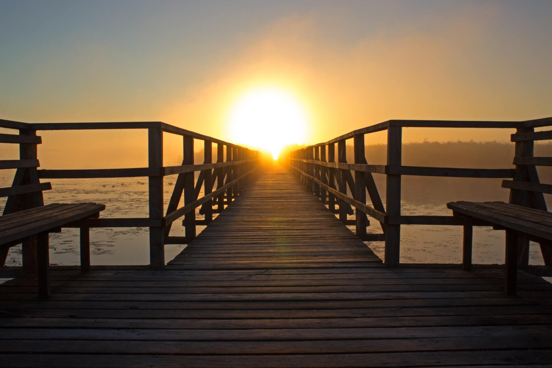
[[[550,366],[550,284],[502,289],[501,268],[386,268],[274,168],[164,269],[1,285],[0,366]]]

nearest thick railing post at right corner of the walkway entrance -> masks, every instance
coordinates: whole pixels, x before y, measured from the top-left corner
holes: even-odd
[[[402,159],[402,127],[390,126],[387,132],[387,164],[400,166]],[[401,214],[401,175],[387,175],[386,214],[399,217]],[[401,225],[387,225],[385,231],[385,264],[400,263]]]

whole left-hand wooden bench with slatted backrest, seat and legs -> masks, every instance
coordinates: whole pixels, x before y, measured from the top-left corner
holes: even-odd
[[[40,183],[36,159],[37,145],[42,138],[27,125],[0,120],[0,127],[19,129],[19,135],[0,134],[0,143],[19,145],[19,159],[0,160],[0,169],[16,169],[12,186],[0,188],[0,197],[7,197],[0,216],[0,266],[6,262],[8,250],[22,243],[23,268],[38,270],[39,296],[50,296],[49,236],[62,227],[81,230],[81,268],[90,268],[90,242],[87,218],[98,217],[105,205],[95,203],[50,204],[45,206],[43,190],[50,183]]]

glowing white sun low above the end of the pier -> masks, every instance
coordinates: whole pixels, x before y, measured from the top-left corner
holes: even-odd
[[[228,125],[232,141],[272,153],[305,142],[307,114],[293,94],[278,87],[257,87],[237,99]]]

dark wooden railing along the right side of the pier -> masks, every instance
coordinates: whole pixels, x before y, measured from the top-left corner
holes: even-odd
[[[385,241],[386,265],[400,263],[401,225],[464,225],[463,220],[453,216],[404,216],[401,215],[401,176],[419,175],[430,177],[456,178],[515,178],[508,182],[511,188],[510,202],[535,208],[546,209],[542,194],[535,200],[518,195],[524,190],[527,195],[535,195],[535,185],[539,183],[535,165],[552,164],[550,158],[533,157],[532,139],[550,139],[552,131],[534,132],[536,127],[552,126],[552,118],[528,121],[448,121],[448,120],[389,120],[380,124],[358,129],[325,143],[293,151],[289,156],[289,167],[312,190],[329,209],[339,214],[339,219],[347,225],[347,215],[355,208],[355,230],[364,241]],[[516,168],[473,169],[446,167],[419,167],[402,165],[402,128],[502,128],[516,129],[512,142],[516,145]],[[387,164],[368,164],[365,157],[364,135],[387,131]],[[346,141],[353,140],[354,163],[347,162]],[[335,146],[337,143],[337,157]],[[327,157],[326,157],[327,151]],[[354,172],[354,177],[352,172]],[[372,173],[386,175],[386,206],[381,201]],[[523,182],[520,184],[519,182]],[[514,188],[515,186],[515,188]],[[347,194],[347,188],[352,195]],[[372,206],[367,205],[368,193]],[[548,192],[545,192],[548,193]],[[327,200],[327,201],[326,201]],[[337,210],[336,210],[337,205]],[[538,207],[537,207],[538,205]],[[367,215],[380,223],[381,233],[367,233]],[[474,224],[477,225],[477,224]],[[528,243],[526,244],[528,248]]]

